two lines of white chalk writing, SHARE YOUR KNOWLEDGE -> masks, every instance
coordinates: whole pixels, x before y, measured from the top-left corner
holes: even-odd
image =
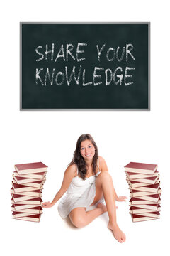
[[[35,85],[48,86],[57,85],[67,86],[80,85],[83,87],[93,85],[134,85],[133,73],[135,67],[135,54],[133,53],[134,46],[132,43],[126,43],[125,46],[111,47],[107,43],[100,45],[96,44],[94,54],[96,55],[96,62],[98,66],[94,65],[92,76],[90,80],[86,80],[88,69],[84,68],[84,61],[87,60],[86,49],[89,47],[88,43],[79,42],[77,46],[72,43],[61,44],[57,43],[44,44],[44,46],[37,46],[35,48],[36,58],[35,61],[40,67],[35,68]],[[103,60],[108,63],[108,68],[102,67]],[[59,70],[58,61],[65,63],[64,68]],[[54,67],[43,67],[43,63],[54,63]],[[70,67],[68,63],[74,63]],[[121,63],[126,65],[121,66]],[[130,65],[129,65],[130,62]],[[111,63],[114,63],[114,68],[111,68]],[[79,65],[78,65],[79,64]]]

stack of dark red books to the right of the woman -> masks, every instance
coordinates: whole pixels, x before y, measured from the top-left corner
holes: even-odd
[[[130,162],[125,166],[125,173],[130,188],[132,221],[159,218],[162,189],[157,164]]]

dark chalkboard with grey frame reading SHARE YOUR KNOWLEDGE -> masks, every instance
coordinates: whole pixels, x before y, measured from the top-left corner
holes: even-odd
[[[21,110],[149,110],[149,23],[21,23]]]

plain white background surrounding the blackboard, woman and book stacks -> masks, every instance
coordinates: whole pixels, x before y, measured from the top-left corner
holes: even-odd
[[[151,111],[19,111],[20,21],[150,21]],[[1,252],[3,255],[149,255],[169,250],[169,7],[168,1],[5,1],[1,4]],[[40,223],[11,219],[14,164],[49,166],[43,201],[60,188],[77,138],[90,133],[106,159],[118,195],[128,196],[123,166],[158,164],[162,187],[159,220],[132,223],[128,201],[117,203],[127,235],[119,244],[105,213],[85,228],[62,220],[57,204]]]

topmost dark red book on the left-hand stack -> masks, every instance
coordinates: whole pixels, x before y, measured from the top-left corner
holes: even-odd
[[[42,162],[29,163],[29,164],[16,164],[16,171],[18,174],[35,174],[47,171],[47,166]]]

